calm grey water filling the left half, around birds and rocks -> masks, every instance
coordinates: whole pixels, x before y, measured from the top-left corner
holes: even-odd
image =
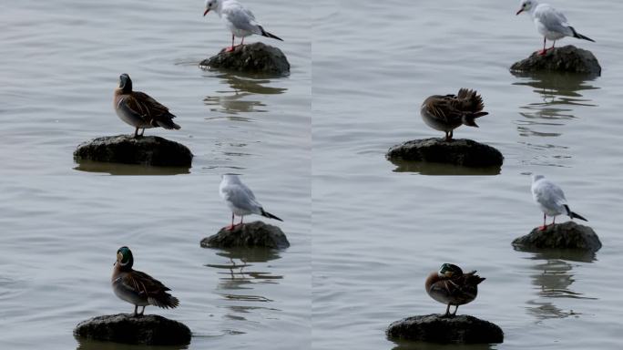
[[[230,40],[217,15],[201,16],[202,0],[0,1],[0,348],[128,348],[72,335],[92,316],[132,311],[109,286],[121,245],[179,297],[178,309],[146,312],[188,324],[190,349],[311,343],[311,38],[301,26],[311,20],[300,5],[246,3],[286,40],[265,42],[286,53],[290,77],[199,69]],[[124,72],[178,116],[179,131],[147,134],[187,145],[192,168],[73,161],[80,142],[132,132],[112,109]],[[199,247],[230,219],[218,186],[231,171],[285,220],[291,248]]]

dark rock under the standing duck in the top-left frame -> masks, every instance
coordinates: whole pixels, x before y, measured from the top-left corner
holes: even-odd
[[[74,160],[143,164],[159,167],[190,167],[192,153],[186,146],[158,136],[105,136],[80,144]]]

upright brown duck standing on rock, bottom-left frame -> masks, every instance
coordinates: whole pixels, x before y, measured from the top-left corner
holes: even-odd
[[[170,289],[147,273],[132,269],[134,257],[128,247],[117,250],[117,261],[113,267],[112,288],[117,297],[134,305],[134,316],[141,316],[145,306],[155,305],[164,309],[179,306],[179,300],[167,293]],[[143,309],[138,314],[138,306]]]

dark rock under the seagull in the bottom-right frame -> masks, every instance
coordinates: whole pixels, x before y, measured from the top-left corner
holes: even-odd
[[[601,248],[601,242],[590,227],[567,221],[548,225],[545,231],[536,227],[529,234],[516,238],[513,246],[520,250],[577,249],[597,252]]]

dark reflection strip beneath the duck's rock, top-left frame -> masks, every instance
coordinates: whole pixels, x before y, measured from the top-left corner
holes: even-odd
[[[74,170],[105,172],[110,175],[178,175],[189,174],[189,167],[152,167],[148,165],[107,163],[92,160],[79,160]]]

